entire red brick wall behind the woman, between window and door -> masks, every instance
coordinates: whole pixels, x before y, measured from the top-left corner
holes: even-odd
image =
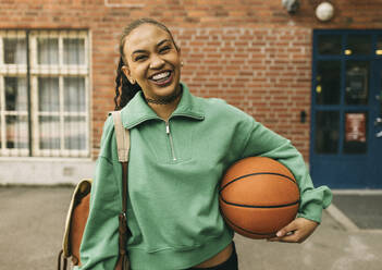
[[[289,15],[281,0],[2,0],[0,28],[89,29],[94,155],[113,109],[119,35],[132,20],[150,16],[174,32],[193,93],[245,110],[308,160],[312,29],[382,28],[382,1],[332,1],[335,17],[328,23],[315,17],[322,1],[300,2]]]

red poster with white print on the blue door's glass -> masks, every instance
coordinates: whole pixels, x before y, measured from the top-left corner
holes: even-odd
[[[346,113],[345,140],[366,142],[366,113]]]

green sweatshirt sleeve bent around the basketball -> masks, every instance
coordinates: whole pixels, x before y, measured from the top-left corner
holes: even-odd
[[[283,163],[294,174],[300,193],[300,205],[297,217],[321,222],[322,209],[332,201],[332,193],[328,186],[315,188],[300,152],[291,142],[262,124],[250,120],[249,131],[242,158],[262,156]]]

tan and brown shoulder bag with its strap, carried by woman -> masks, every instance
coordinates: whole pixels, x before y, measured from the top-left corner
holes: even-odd
[[[115,270],[128,270],[130,261],[126,253],[126,241],[128,237],[127,220],[126,220],[126,202],[127,202],[127,161],[130,150],[130,133],[123,128],[121,121],[121,112],[111,112],[114,120],[114,130],[116,137],[119,160],[122,163],[122,212],[119,216],[119,260]],[[81,266],[79,247],[89,216],[89,200],[91,191],[91,180],[82,180],[75,187],[72,200],[67,210],[65,231],[62,242],[62,249],[59,254],[58,270],[67,269],[67,259],[72,258],[74,266]],[[63,257],[63,258],[62,258]],[[61,268],[61,262],[62,267]]]

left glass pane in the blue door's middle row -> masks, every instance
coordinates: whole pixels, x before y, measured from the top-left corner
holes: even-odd
[[[341,62],[319,61],[317,64],[316,103],[340,105]]]

